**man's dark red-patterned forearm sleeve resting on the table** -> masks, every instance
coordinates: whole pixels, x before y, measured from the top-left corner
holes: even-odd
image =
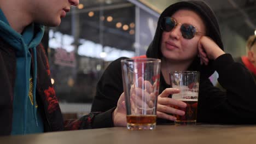
[[[95,129],[114,127],[112,112],[115,107],[106,112],[91,112],[79,119],[69,119],[64,122],[65,130]]]

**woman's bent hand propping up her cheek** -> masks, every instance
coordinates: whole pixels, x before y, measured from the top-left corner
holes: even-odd
[[[201,64],[208,65],[209,59],[216,59],[225,52],[209,37],[203,36],[198,43]]]

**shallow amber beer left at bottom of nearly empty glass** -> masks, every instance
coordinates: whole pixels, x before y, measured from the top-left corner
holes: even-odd
[[[156,124],[156,115],[128,115],[126,118],[128,129],[144,129],[146,127],[154,129]]]

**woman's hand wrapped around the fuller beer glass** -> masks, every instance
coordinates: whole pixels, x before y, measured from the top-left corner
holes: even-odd
[[[168,113],[183,116],[185,114],[184,111],[174,109],[173,106],[178,107],[187,107],[187,104],[183,101],[168,98],[168,95],[179,93],[179,89],[176,88],[166,88],[160,95],[158,95],[158,108],[157,115],[158,118],[169,119],[171,121],[175,121],[176,117],[168,115]]]

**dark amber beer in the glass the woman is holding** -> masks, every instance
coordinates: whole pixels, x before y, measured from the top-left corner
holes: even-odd
[[[175,124],[196,124],[196,116],[197,116],[197,99],[182,99],[184,103],[187,104],[187,107],[182,108],[178,106],[174,106],[175,109],[179,109],[185,112],[184,116],[174,115],[177,119]]]

